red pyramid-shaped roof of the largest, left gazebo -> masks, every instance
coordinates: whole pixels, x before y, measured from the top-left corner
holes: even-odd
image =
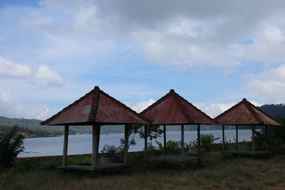
[[[123,125],[146,124],[149,120],[138,115],[114,97],[95,86],[76,102],[53,115],[41,125]]]

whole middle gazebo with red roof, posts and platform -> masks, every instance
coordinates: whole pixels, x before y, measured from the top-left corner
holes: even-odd
[[[200,125],[215,124],[211,117],[185,100],[183,97],[170,90],[160,100],[153,103],[145,110],[140,112],[143,117],[152,120],[151,125],[163,125],[164,139],[164,155],[160,157],[152,157],[147,159],[147,138],[145,135],[145,161],[146,162],[189,162],[190,160],[198,160],[200,163]],[[181,157],[166,155],[166,125],[181,125]],[[197,157],[185,157],[184,146],[184,125],[197,125]],[[147,125],[145,125],[145,132]]]

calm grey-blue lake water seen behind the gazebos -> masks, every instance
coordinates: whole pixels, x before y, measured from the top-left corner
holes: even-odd
[[[235,130],[225,130],[226,140],[234,142]],[[215,143],[222,142],[222,130],[201,131],[201,134],[213,134],[214,137],[221,137]],[[120,139],[124,137],[123,133],[120,134],[101,134],[99,150],[105,144],[120,145]],[[239,142],[251,141],[252,130],[239,130]],[[166,140],[179,141],[181,139],[181,132],[170,131],[166,132]],[[185,131],[185,142],[189,143],[193,139],[197,139],[197,131]],[[157,141],[163,143],[162,137],[158,137]],[[129,151],[140,151],[144,148],[144,139],[140,139],[139,135],[135,137],[137,144],[130,146]],[[155,142],[152,142],[156,145]],[[24,139],[24,152],[19,154],[19,157],[42,157],[54,156],[63,154],[63,137],[46,137],[46,138],[31,138]],[[68,137],[68,154],[91,154],[92,153],[92,136],[91,134],[83,135],[70,135]]]

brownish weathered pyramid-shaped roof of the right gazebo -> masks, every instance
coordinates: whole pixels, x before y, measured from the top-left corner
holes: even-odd
[[[280,125],[245,98],[214,120],[219,125]]]

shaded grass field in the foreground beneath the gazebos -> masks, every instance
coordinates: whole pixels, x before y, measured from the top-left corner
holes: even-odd
[[[69,163],[88,158],[69,159]],[[142,154],[131,155],[123,171],[66,171],[61,159],[20,160],[0,173],[0,189],[285,189],[285,156],[224,159],[211,152],[188,167],[143,167]]]

